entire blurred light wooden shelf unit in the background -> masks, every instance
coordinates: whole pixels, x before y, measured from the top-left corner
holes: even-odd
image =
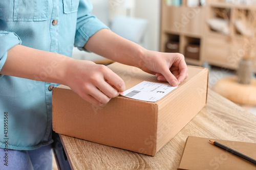
[[[238,69],[242,58],[244,42],[241,34],[234,25],[238,19],[236,10],[256,10],[256,5],[234,5],[224,2],[207,1],[201,7],[188,7],[186,0],[181,6],[167,6],[161,1],[161,31],[160,51],[165,52],[165,44],[172,41],[172,37],[179,37],[179,53],[185,54],[185,47],[191,39],[198,39],[200,44],[199,59],[185,56],[188,64],[202,65],[208,62],[229,69]],[[219,17],[216,10],[226,10],[228,16],[229,34],[225,35],[210,29],[207,20]],[[175,39],[174,39],[175,40]],[[193,43],[193,42],[192,42]],[[256,47],[253,47],[256,55]],[[256,61],[254,62],[256,70]]]

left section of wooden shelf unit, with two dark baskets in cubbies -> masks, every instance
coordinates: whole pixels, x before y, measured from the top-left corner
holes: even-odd
[[[179,53],[185,54],[185,47],[188,44],[197,44],[200,46],[199,59],[191,59],[185,56],[189,64],[202,65],[204,39],[202,32],[204,29],[201,23],[204,20],[203,7],[188,7],[186,1],[182,1],[181,6],[167,6],[161,1],[161,35],[160,51],[165,52],[167,41],[177,41],[179,37]]]

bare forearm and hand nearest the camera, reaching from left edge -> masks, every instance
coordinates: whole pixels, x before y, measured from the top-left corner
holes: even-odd
[[[84,100],[98,106],[125,90],[123,80],[104,65],[23,45],[8,50],[0,74],[64,84]]]

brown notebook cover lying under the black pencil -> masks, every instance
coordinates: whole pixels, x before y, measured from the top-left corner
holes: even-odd
[[[209,140],[217,141],[244,155],[256,159],[256,143],[188,136],[178,169],[256,169],[256,165],[233,155]]]

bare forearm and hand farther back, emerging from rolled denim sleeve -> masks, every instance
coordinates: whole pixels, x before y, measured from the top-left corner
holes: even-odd
[[[84,48],[114,61],[137,66],[155,74],[159,81],[167,81],[172,86],[187,78],[187,66],[182,54],[146,50],[108,29],[96,32]]]

